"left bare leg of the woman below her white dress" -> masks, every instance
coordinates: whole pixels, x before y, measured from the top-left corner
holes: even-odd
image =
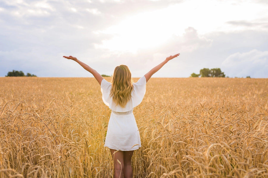
[[[114,165],[114,178],[123,178],[124,153],[123,151],[110,149]],[[120,163],[119,163],[120,162]]]

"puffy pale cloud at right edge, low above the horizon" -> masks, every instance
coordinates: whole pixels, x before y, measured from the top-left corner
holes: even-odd
[[[225,73],[232,77],[268,77],[268,51],[250,50],[229,55],[223,62]]]

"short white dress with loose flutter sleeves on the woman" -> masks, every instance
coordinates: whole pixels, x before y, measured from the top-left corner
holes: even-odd
[[[141,147],[140,133],[137,127],[133,108],[138,106],[146,91],[146,79],[141,77],[133,83],[131,98],[125,107],[120,107],[110,97],[112,84],[105,79],[101,82],[102,100],[112,109],[108,123],[105,147],[113,150],[130,151]]]

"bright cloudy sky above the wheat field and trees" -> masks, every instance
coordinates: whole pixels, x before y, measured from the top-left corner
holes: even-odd
[[[268,78],[267,0],[0,0],[0,77],[93,77],[127,65],[141,77]]]

